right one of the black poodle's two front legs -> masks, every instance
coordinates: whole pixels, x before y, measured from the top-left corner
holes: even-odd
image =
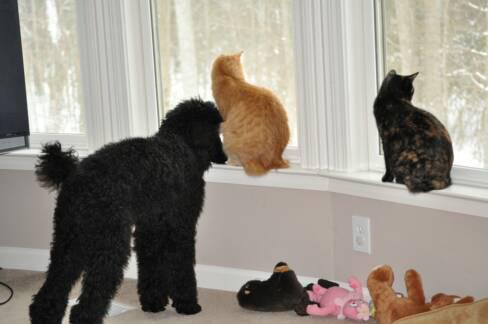
[[[180,314],[196,314],[198,304],[195,278],[195,229],[183,229],[169,234],[167,265],[170,269],[170,297]]]

